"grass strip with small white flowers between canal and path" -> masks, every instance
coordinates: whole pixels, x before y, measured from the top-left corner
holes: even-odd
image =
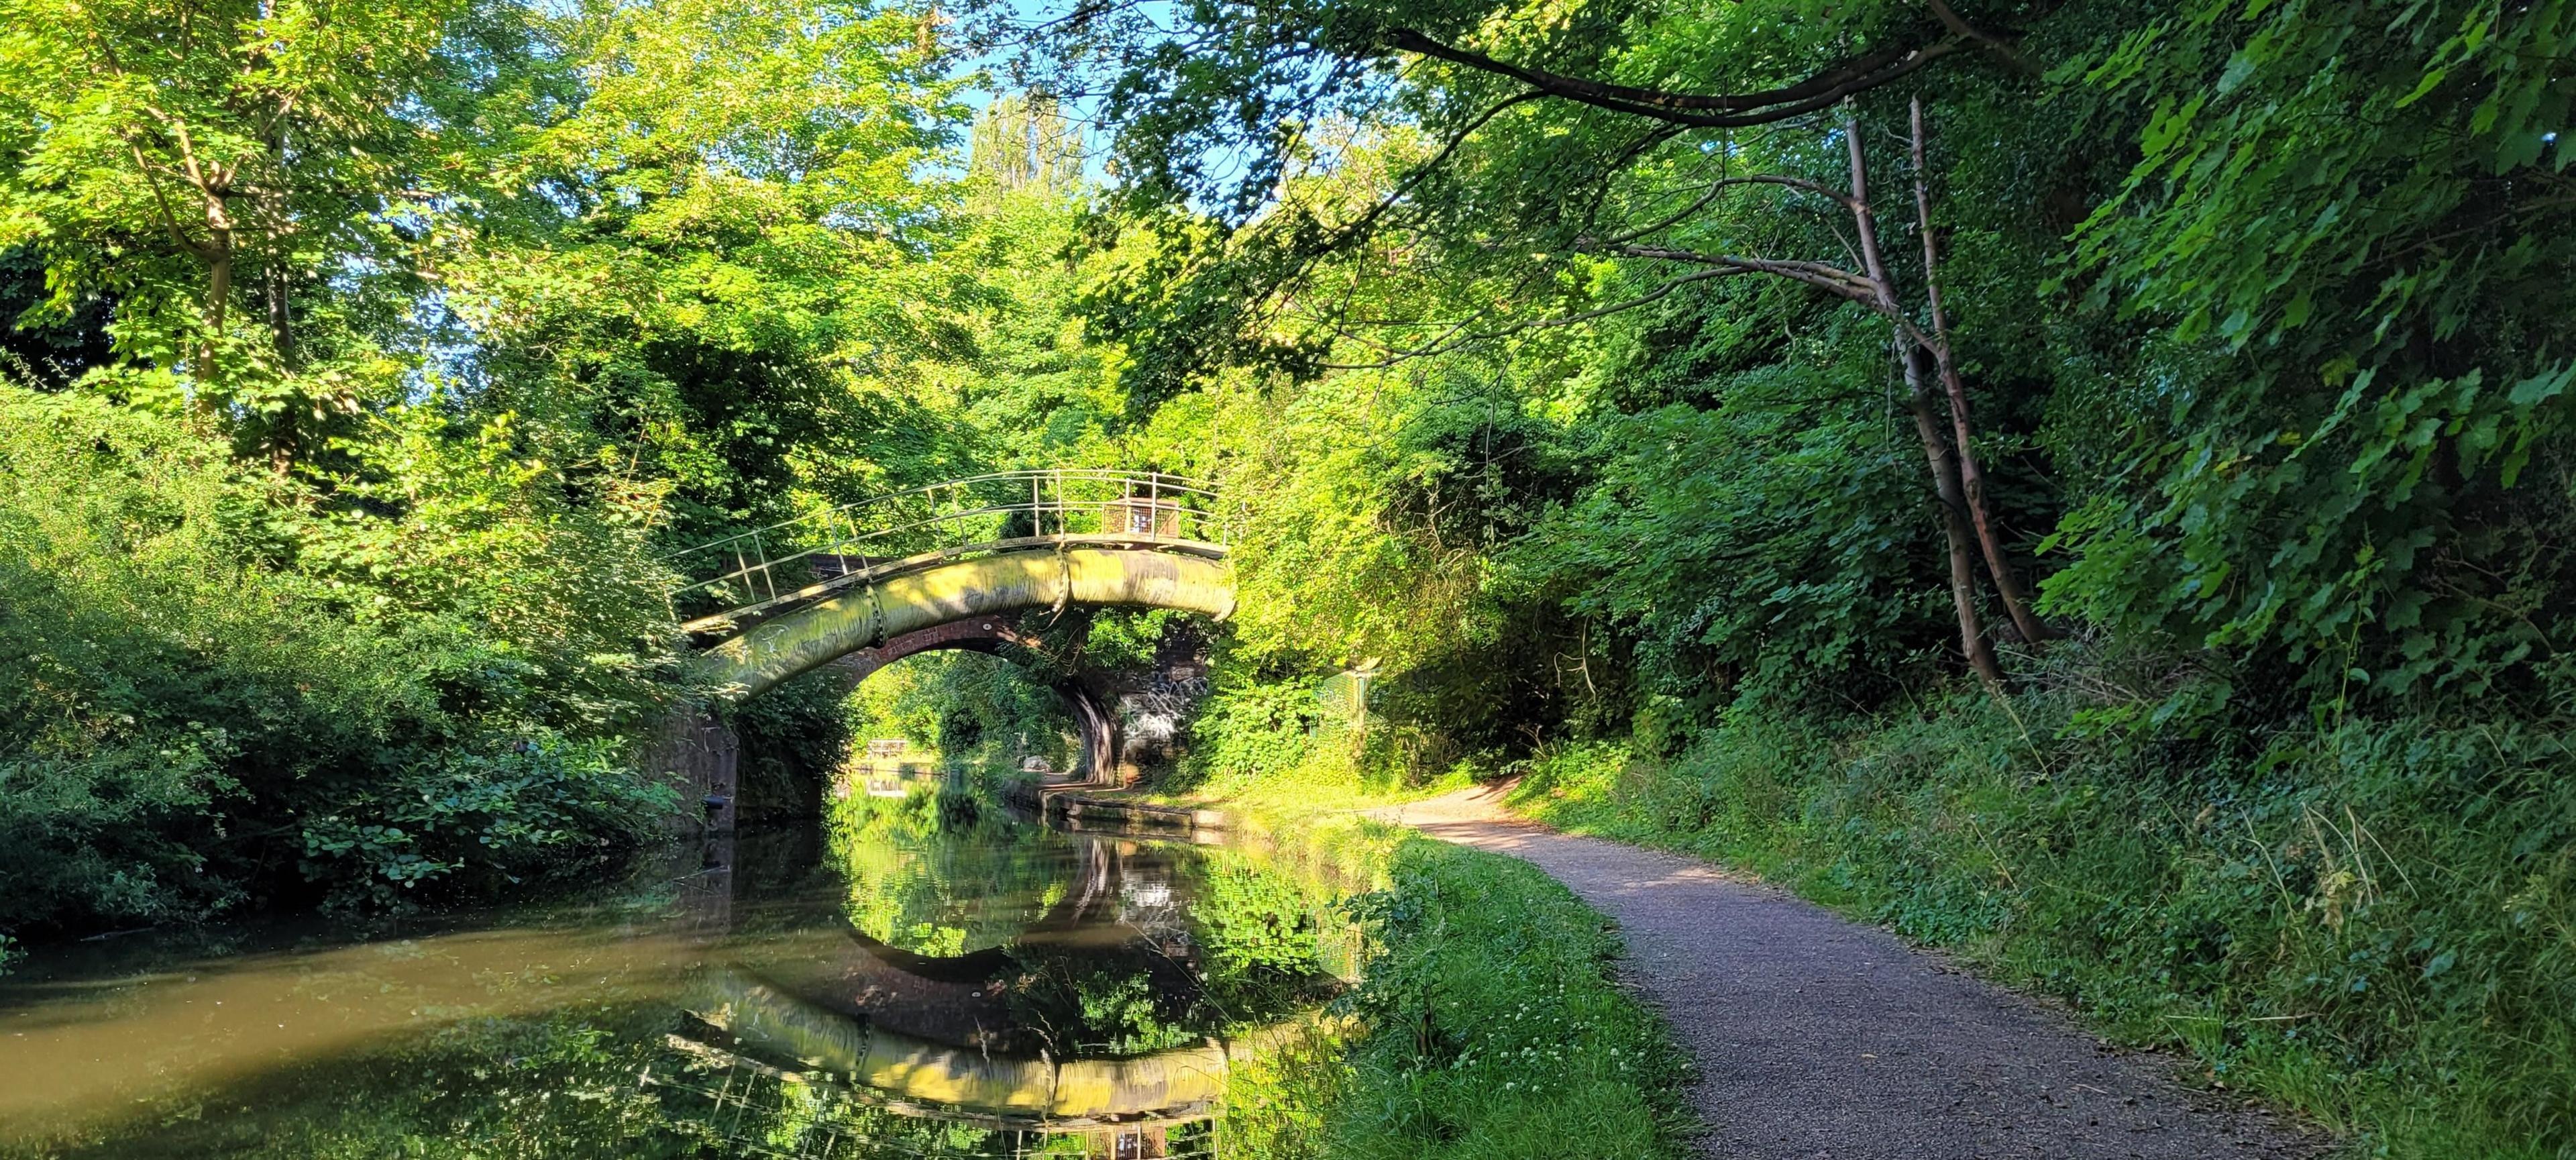
[[[1520,858],[1340,822],[1309,846],[1370,851],[1352,907],[1373,954],[1342,1003],[1358,1031],[1236,1078],[1234,1155],[1680,1157],[1685,1062],[1623,992],[1620,941]]]

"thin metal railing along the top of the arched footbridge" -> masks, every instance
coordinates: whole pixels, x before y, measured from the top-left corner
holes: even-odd
[[[683,629],[796,606],[981,549],[1103,541],[1224,554],[1216,490],[1164,472],[994,472],[871,495],[665,557]]]

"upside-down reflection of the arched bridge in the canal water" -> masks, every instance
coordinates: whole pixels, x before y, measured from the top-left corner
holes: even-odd
[[[817,928],[760,923],[755,936],[726,941],[719,964],[690,977],[685,1018],[665,1036],[680,1059],[657,1059],[639,1083],[677,1096],[672,1106],[698,1108],[688,1096],[703,1101],[696,1119],[724,1139],[726,1155],[1216,1160],[1213,1116],[1224,1111],[1236,1067],[1347,1031],[1342,1018],[1319,1010],[1316,995],[1280,1008],[1231,1008],[1229,1023],[1244,1016],[1257,1023],[1154,1052],[1084,1044],[1079,1029],[1033,1023],[1010,998],[1048,962],[1144,969],[1159,995],[1195,987],[1200,949],[1185,918],[1190,879],[1172,851],[1074,838],[1079,861],[1051,879],[1061,889],[1010,894],[992,879],[956,882],[966,887],[958,900],[976,905],[1043,900],[1043,915],[989,946],[969,936],[963,943],[933,938],[922,946],[927,954],[907,951],[871,938],[855,920],[840,925],[840,915]],[[1288,915],[1293,910],[1280,918]],[[1321,949],[1321,925],[1316,938]],[[1347,982],[1347,959],[1334,974]],[[914,1150],[884,1121],[871,1134],[853,1108],[992,1137]]]

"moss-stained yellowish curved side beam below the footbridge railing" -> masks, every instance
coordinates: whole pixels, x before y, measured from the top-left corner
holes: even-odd
[[[1072,603],[1226,619],[1234,614],[1234,575],[1221,559],[1097,546],[953,559],[760,621],[693,657],[690,675],[716,696],[742,701],[860,650],[891,652],[894,642],[925,629]],[[889,660],[876,657],[878,665]]]

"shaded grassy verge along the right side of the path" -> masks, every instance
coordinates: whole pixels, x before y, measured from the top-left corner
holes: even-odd
[[[2576,1157],[2576,794],[2530,727],[2087,730],[1984,699],[1533,763],[1551,825],[1752,869],[2071,1000],[2354,1155]]]

